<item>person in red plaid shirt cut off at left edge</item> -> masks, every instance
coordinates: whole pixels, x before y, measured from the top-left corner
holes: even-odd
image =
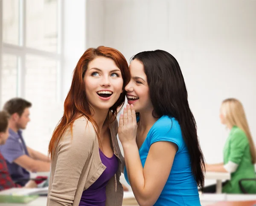
[[[9,114],[4,111],[0,112],[0,145],[5,144],[9,136],[8,120]],[[13,187],[21,187],[21,185],[16,184],[12,181],[12,178],[8,172],[6,161],[4,160],[3,155],[0,153],[0,191]],[[30,180],[28,183],[26,183],[25,187],[34,188],[37,187],[37,184],[35,183],[35,181]]]

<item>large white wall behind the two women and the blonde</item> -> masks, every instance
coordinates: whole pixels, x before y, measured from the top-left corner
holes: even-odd
[[[256,142],[256,1],[88,0],[87,11],[87,47],[111,46],[127,60],[154,49],[176,57],[208,163],[222,161],[224,98],[244,104]]]

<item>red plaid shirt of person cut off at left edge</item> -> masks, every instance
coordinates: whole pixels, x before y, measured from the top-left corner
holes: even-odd
[[[4,189],[10,189],[13,187],[21,187],[13,182],[12,177],[9,174],[6,161],[0,154],[0,191]]]

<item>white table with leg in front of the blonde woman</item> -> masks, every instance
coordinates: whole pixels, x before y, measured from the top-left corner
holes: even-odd
[[[220,194],[222,191],[222,180],[230,180],[231,175],[228,172],[206,172],[205,179],[216,180],[216,193]]]

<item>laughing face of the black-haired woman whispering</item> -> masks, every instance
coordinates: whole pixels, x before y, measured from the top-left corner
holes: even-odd
[[[153,111],[153,106],[149,97],[149,87],[147,83],[147,76],[144,72],[143,64],[134,59],[130,66],[131,80],[125,91],[128,104],[133,104],[136,112]]]

